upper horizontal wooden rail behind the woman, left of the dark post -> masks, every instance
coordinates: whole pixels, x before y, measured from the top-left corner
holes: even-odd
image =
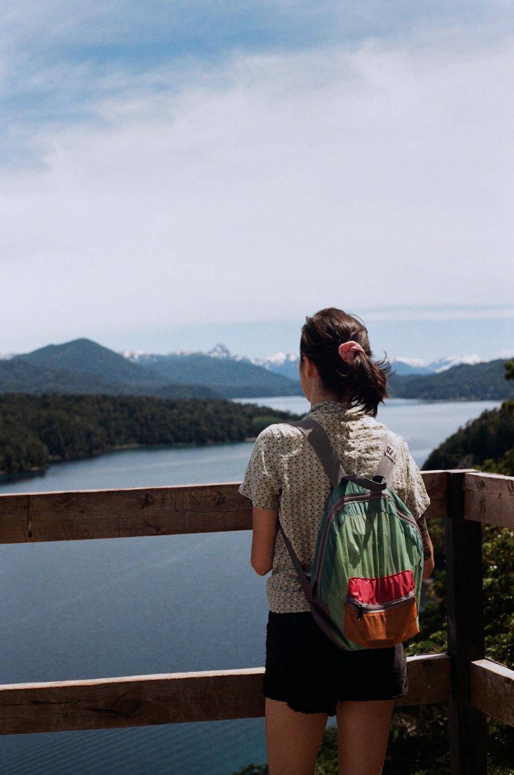
[[[423,472],[432,505],[446,515],[446,471]],[[251,504],[236,484],[0,495],[0,544],[170,536],[247,530]]]

